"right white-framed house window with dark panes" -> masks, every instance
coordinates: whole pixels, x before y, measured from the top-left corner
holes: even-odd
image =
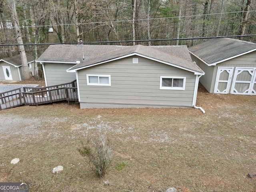
[[[186,77],[160,76],[160,89],[185,90]]]

